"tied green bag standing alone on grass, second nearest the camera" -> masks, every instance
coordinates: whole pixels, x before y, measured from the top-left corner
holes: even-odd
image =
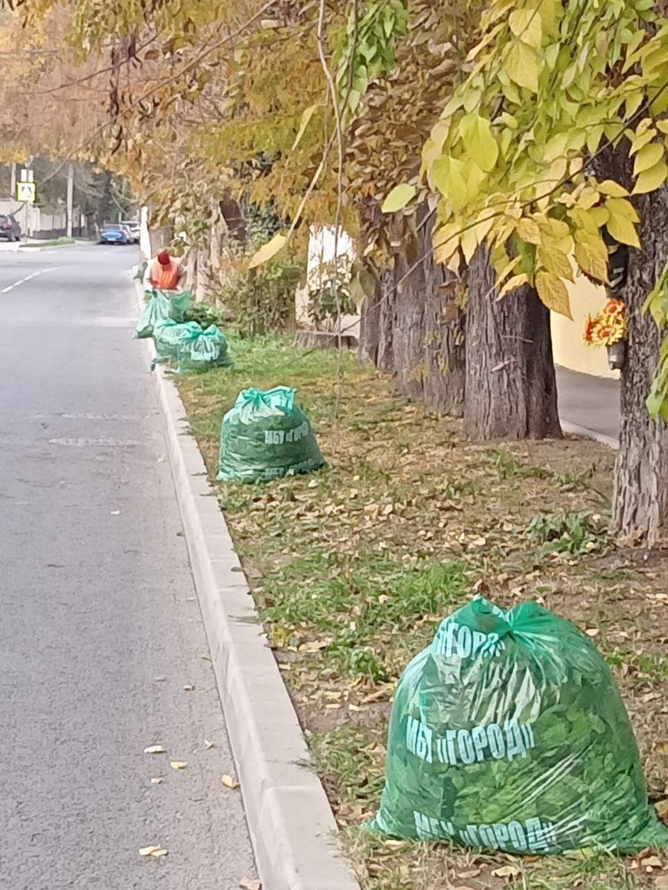
[[[327,466],[295,392],[288,386],[240,392],[223,418],[220,481],[269,481]]]

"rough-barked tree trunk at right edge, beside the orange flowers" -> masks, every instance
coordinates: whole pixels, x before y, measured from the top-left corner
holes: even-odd
[[[668,255],[668,189],[641,198],[637,206],[642,251],[630,251],[623,295],[629,342],[622,372],[613,528],[652,545],[668,531],[668,428],[664,420],[651,421],[645,404],[663,333],[642,314],[642,304]]]

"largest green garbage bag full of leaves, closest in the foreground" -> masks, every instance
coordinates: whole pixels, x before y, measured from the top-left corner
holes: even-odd
[[[403,674],[371,828],[517,854],[668,846],[594,644],[538,603],[482,598]]]

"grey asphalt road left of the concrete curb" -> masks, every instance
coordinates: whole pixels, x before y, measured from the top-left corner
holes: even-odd
[[[231,890],[254,876],[131,339],[137,261],[134,247],[0,252],[2,890]],[[158,744],[167,755],[143,753]],[[167,857],[142,858],[149,845]]]

